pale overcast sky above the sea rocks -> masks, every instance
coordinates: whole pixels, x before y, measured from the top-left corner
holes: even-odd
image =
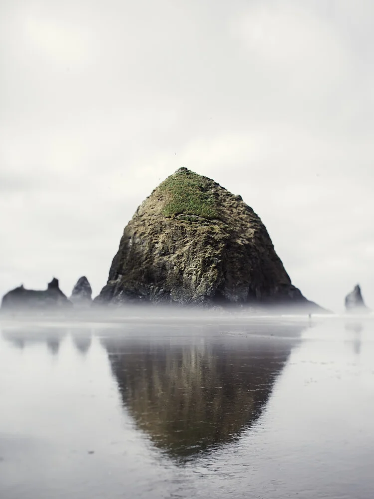
[[[181,166],[261,217],[292,282],[374,307],[372,0],[2,0],[0,293],[105,284]]]

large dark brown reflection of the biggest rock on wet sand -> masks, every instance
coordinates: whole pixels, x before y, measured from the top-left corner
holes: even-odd
[[[260,416],[295,339],[191,341],[103,340],[138,427],[180,457],[233,440]]]

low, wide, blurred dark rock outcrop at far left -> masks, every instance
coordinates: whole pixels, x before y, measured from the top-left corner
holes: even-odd
[[[25,289],[22,284],[4,294],[1,301],[2,310],[40,310],[70,307],[72,307],[72,304],[59,288],[58,279],[55,277],[48,283],[47,289],[43,291]]]

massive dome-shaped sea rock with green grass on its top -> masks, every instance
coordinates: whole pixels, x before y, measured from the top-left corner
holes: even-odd
[[[124,229],[98,303],[295,305],[308,301],[241,196],[180,168],[137,209]]]

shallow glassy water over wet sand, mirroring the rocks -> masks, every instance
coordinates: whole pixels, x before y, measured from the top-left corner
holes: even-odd
[[[3,499],[374,497],[373,318],[0,328]]]

